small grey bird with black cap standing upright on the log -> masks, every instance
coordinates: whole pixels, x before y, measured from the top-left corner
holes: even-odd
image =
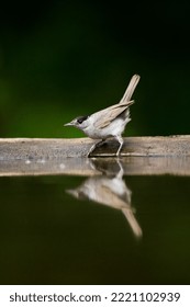
[[[113,137],[119,141],[120,146],[116,151],[116,157],[120,155],[123,146],[122,133],[124,132],[126,124],[131,121],[130,106],[134,103],[134,100],[131,101],[131,98],[138,81],[139,76],[134,75],[119,103],[91,115],[79,116],[64,125],[79,128],[92,139],[101,139],[101,141],[91,146],[87,155],[88,157],[97,146],[102,145],[105,139],[110,137]]]

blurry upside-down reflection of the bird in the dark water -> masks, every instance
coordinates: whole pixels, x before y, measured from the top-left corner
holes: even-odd
[[[134,235],[136,237],[142,237],[143,232],[138,221],[135,218],[135,209],[132,207],[131,198],[132,192],[126,186],[123,180],[123,167],[119,159],[116,159],[119,166],[119,171],[116,175],[108,175],[108,164],[107,169],[102,168],[102,164],[98,163],[91,159],[91,167],[96,170],[101,170],[101,175],[88,178],[81,185],[74,190],[67,190],[66,192],[79,200],[90,200],[92,202],[120,209],[125,218],[127,219]]]

